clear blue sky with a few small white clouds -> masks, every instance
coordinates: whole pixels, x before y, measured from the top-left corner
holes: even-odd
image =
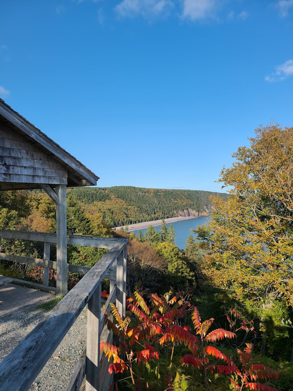
[[[220,190],[293,126],[293,0],[2,0],[0,97],[98,185]]]

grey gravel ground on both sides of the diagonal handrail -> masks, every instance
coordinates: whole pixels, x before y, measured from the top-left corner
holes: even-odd
[[[50,293],[5,284],[0,290],[0,361],[43,319],[36,306],[52,300]],[[86,346],[86,308],[48,360],[29,391],[65,390]]]

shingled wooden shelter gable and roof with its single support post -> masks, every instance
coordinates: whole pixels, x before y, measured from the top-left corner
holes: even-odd
[[[66,187],[94,186],[98,179],[0,99],[0,190],[42,188],[55,202],[57,294],[67,292]]]

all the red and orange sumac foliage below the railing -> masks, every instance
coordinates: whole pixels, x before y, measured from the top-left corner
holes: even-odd
[[[107,327],[120,341],[117,346],[104,342],[100,346],[108,361],[111,359],[110,374],[127,370],[135,389],[142,389],[141,385],[146,380],[139,375],[136,366],[139,368],[142,364],[155,362],[156,379],[153,383],[147,382],[147,388],[158,390],[161,378],[160,389],[177,390],[175,383],[179,375],[178,372],[177,375],[172,373],[172,358],[175,346],[182,345],[189,353],[180,358],[180,364],[183,367],[193,367],[200,373],[206,391],[212,389],[211,375],[214,373],[230,378],[231,386],[236,390],[248,388],[276,391],[274,387],[263,383],[277,379],[277,372],[255,362],[252,344],[247,344],[243,351],[238,349],[237,357],[233,359],[221,352],[219,343],[226,339],[234,339],[235,332],[223,328],[211,330],[214,319],[201,321],[197,307],[190,305],[188,292],[174,295],[171,290],[163,296],[152,293],[145,298],[146,295],[147,291],[139,289],[132,294],[127,301],[128,311],[125,319],[113,304],[111,313],[114,319],[111,320],[110,314],[105,312]],[[234,314],[238,320],[241,318],[234,309],[229,313]],[[247,326],[250,322],[240,320],[242,330],[247,331],[248,328],[248,331],[252,331],[250,328],[253,329],[253,326]],[[194,330],[187,325],[190,322]],[[160,368],[162,354],[164,365]]]

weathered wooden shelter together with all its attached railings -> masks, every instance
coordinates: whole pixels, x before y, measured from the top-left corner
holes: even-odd
[[[109,278],[110,303],[125,317],[127,239],[66,234],[66,187],[96,185],[99,178],[68,152],[34,127],[0,99],[0,190],[43,189],[56,203],[57,233],[11,231],[0,227],[0,258],[43,267],[43,285],[50,291],[49,268],[57,269],[57,294],[67,293],[67,269],[84,277],[44,317],[14,350],[0,362],[0,391],[27,391],[74,321],[88,305],[87,346],[80,357],[66,391],[77,391],[85,378],[86,391],[108,391],[113,375],[100,355],[100,340],[113,343],[113,332],[105,326],[101,310],[102,280]],[[1,237],[44,243],[44,258],[30,258],[1,252]],[[57,244],[57,262],[50,261],[50,243]],[[92,267],[67,264],[67,244],[107,248]],[[15,279],[12,279],[15,280]],[[20,283],[20,280],[16,281]]]

